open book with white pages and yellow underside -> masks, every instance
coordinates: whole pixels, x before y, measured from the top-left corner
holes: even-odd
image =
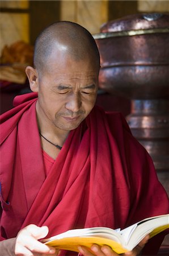
[[[123,230],[103,227],[72,229],[41,242],[58,249],[77,252],[78,246],[90,249],[91,245],[96,243],[100,246],[108,245],[120,254],[132,250],[147,234],[150,234],[151,238],[167,228],[169,214],[145,218]]]

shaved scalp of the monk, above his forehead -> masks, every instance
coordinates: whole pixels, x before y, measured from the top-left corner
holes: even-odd
[[[45,28],[35,43],[34,66],[37,71],[47,68],[48,59],[53,51],[69,55],[75,61],[86,60],[88,57],[100,67],[100,56],[95,40],[77,23],[57,22]]]

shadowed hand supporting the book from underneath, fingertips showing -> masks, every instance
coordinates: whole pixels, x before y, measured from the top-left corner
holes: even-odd
[[[123,256],[136,256],[138,255],[147,241],[149,240],[149,235],[143,238],[143,240],[132,250],[128,251],[127,253],[122,254]],[[92,245],[91,246],[91,251],[92,253],[87,250],[86,247],[78,247],[79,253],[81,253],[83,256],[117,256],[119,254],[115,253],[109,246],[102,246],[100,247],[99,245]]]

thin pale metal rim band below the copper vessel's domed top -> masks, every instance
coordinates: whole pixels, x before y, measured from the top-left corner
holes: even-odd
[[[135,36],[156,33],[169,33],[169,28],[151,28],[149,30],[129,30],[119,32],[101,32],[92,35],[94,39],[116,38],[118,36]]]

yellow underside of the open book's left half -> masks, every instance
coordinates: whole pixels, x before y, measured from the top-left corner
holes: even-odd
[[[120,245],[120,243],[102,237],[67,237],[59,240],[45,242],[46,245],[53,246],[57,249],[64,249],[77,252],[78,246],[86,246],[90,248],[94,243],[100,246],[108,245],[112,248],[113,251],[115,251],[118,254],[126,253],[126,251],[128,251],[125,248],[123,248]]]

